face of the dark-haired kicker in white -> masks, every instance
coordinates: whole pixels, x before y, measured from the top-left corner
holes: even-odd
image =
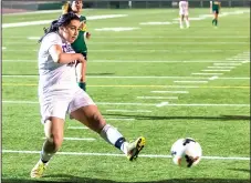
[[[63,38],[67,42],[73,43],[76,40],[77,35],[79,35],[80,26],[81,26],[80,20],[72,20],[69,26],[62,28]]]

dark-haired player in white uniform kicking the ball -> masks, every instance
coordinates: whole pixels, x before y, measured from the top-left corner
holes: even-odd
[[[31,177],[41,177],[49,161],[61,148],[66,114],[119,149],[129,161],[135,160],[145,145],[145,138],[142,136],[128,143],[114,126],[105,122],[93,100],[74,82],[76,61],[86,61],[83,54],[75,53],[71,47],[77,39],[80,27],[76,14],[62,14],[40,39],[39,101],[45,141],[40,160],[30,172]]]

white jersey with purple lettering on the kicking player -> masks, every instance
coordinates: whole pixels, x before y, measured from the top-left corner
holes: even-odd
[[[50,91],[71,90],[76,87],[75,64],[61,64],[53,61],[49,49],[59,44],[65,53],[75,53],[71,44],[56,32],[49,33],[41,42],[39,51],[39,94]]]

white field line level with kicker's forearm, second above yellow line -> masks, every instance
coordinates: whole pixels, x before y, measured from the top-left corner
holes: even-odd
[[[34,62],[36,63],[38,60],[2,60],[2,62]],[[219,60],[92,60],[91,63],[97,62],[97,63],[217,63],[217,62],[226,62],[226,63],[241,63],[240,61],[219,61]]]

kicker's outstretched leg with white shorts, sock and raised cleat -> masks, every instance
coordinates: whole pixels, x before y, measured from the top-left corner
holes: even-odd
[[[133,161],[145,145],[145,139],[138,138],[128,143],[125,138],[113,125],[107,124],[100,113],[97,106],[86,93],[79,93],[70,104],[71,115],[98,133],[106,142],[123,151]]]

